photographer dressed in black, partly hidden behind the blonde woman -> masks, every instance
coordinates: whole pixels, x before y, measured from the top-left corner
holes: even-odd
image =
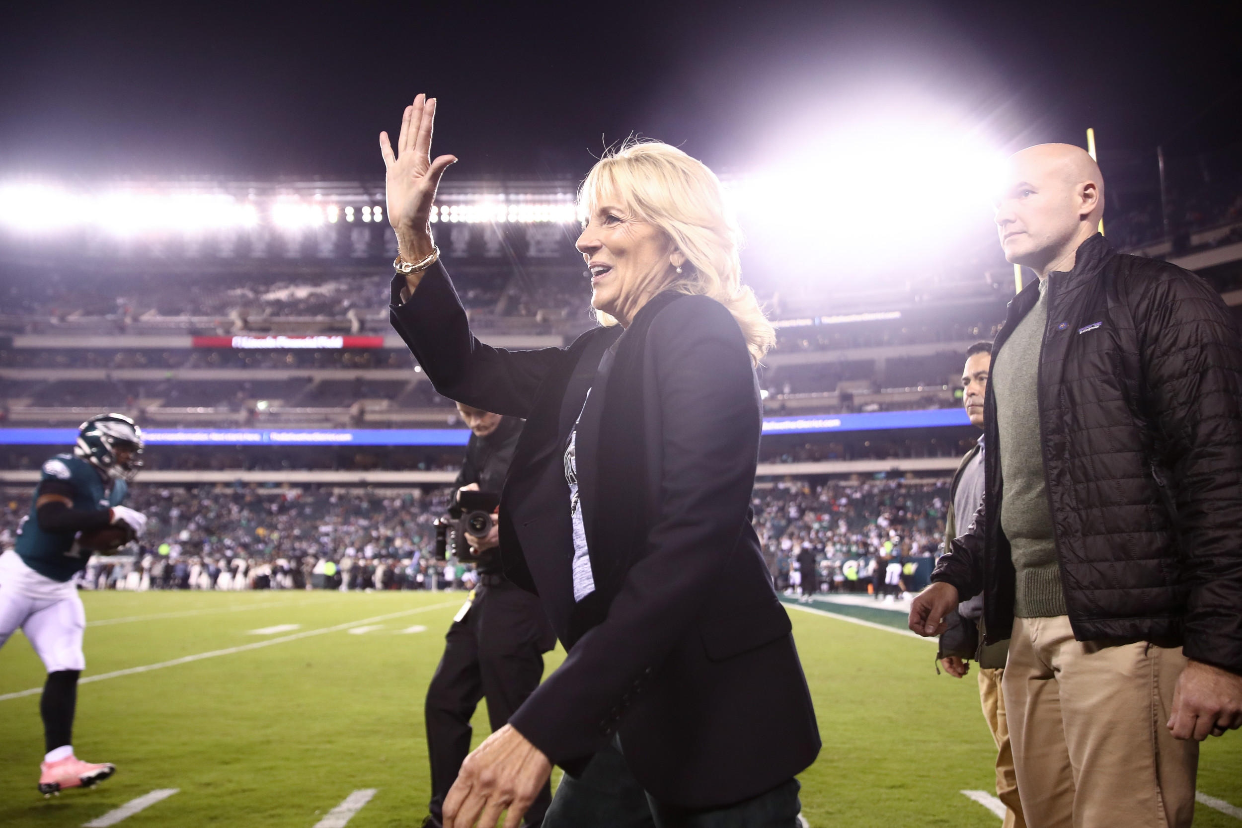
[[[457,411],[473,432],[455,482],[458,497],[461,492],[499,495],[522,421],[461,403]],[[474,562],[478,586],[448,628],[445,654],[427,688],[424,718],[431,760],[431,816],[424,826],[435,828],[441,826],[445,797],[469,752],[469,721],[478,700],[487,699],[492,731],[503,727],[539,686],[543,654],[555,646],[539,598],[510,583],[501,572],[496,521],[482,538],[465,531],[457,538],[457,556]],[[462,554],[462,542],[469,546],[469,554]],[[545,785],[527,812],[527,826],[543,822],[550,799],[551,790]]]

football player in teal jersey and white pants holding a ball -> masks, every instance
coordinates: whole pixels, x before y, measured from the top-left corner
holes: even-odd
[[[39,705],[47,751],[39,778],[43,796],[89,787],[117,770],[73,756],[86,612],[72,578],[93,551],[117,549],[147,526],[142,513],[120,505],[142,452],[142,430],[129,417],[87,420],[73,453],[43,463],[30,513],[17,528],[16,549],[0,555],[0,647],[21,627],[47,668]]]

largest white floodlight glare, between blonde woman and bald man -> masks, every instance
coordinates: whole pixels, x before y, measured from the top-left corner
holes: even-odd
[[[776,144],[773,163],[729,181],[751,248],[836,269],[929,256],[987,231],[997,148],[925,103],[889,113],[810,123]]]

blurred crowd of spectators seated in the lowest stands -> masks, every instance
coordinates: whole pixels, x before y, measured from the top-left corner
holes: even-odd
[[[345,588],[469,586],[468,561],[435,559],[432,521],[448,489],[160,488],[127,505],[148,516],[140,545],[92,560],[86,588]],[[9,489],[0,546],[30,509]],[[810,550],[823,590],[884,592],[888,564],[930,561],[943,539],[948,480],[779,483],[754,492],[755,530],[780,590],[799,588]],[[913,571],[912,567],[910,571]],[[924,566],[927,569],[927,566]],[[852,575],[851,575],[852,574]],[[907,572],[909,576],[910,572]],[[435,587],[433,587],[435,585]],[[909,577],[903,586],[912,588]]]

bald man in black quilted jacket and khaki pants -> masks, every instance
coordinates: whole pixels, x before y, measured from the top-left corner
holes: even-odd
[[[984,503],[910,628],[986,592],[1031,828],[1190,826],[1199,741],[1242,725],[1242,341],[1197,276],[1109,247],[1077,146],[1013,155],[995,207],[1040,278],[992,349]]]

